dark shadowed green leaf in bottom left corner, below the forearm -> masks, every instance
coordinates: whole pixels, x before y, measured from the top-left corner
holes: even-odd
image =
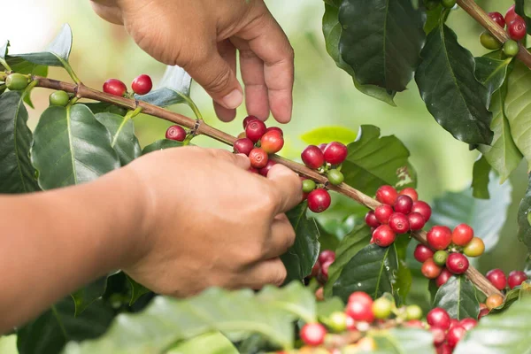
[[[70,297],[42,313],[17,331],[19,354],[59,353],[66,342],[103,335],[110,326],[112,308],[97,301],[81,316],[74,317]]]

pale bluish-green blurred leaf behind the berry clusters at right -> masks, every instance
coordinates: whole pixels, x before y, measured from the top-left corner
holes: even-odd
[[[436,198],[432,205],[430,224],[453,228],[464,222],[473,227],[474,235],[485,242],[485,250],[492,250],[499,240],[512,201],[511,184],[509,181],[500,184],[499,181],[491,173],[489,200],[475,199],[468,188],[460,192],[447,192]]]

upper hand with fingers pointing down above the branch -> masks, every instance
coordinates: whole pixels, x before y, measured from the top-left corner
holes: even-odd
[[[166,65],[180,65],[212,96],[219,119],[235,118],[242,87],[247,112],[291,119],[293,49],[263,0],[92,0],[96,13],[123,24],[135,42]]]

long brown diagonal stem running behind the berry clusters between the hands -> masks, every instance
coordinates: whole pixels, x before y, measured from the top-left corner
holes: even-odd
[[[173,123],[177,123],[183,127],[188,127],[196,132],[196,135],[206,135],[212,139],[216,139],[219,142],[224,142],[227,145],[232,145],[236,138],[232,135],[228,135],[225,132],[211,127],[208,124],[204,123],[202,120],[191,119],[185,117],[179,113],[170,112],[164,108],[158,107],[153,104],[146,104],[142,101],[135,101],[134,99],[112,96],[104,92],[96,91],[95,89],[89,89],[83,84],[74,85],[72,83],[52,80],[43,78],[40,76],[34,76],[35,81],[38,81],[36,86],[47,88],[47,89],[62,89],[66,92],[74,93],[79,98],[89,98],[100,102],[107,102],[110,104],[116,104],[121,107],[127,108],[129,110],[135,110],[138,107],[142,107],[142,113],[149,114],[154,117],[161,119],[169,120]],[[341,183],[338,186],[333,186],[328,184],[328,180],[325,176],[317,173],[316,171],[306,167],[305,165],[298,164],[294,161],[291,161],[287,158],[281,158],[278,155],[271,157],[274,162],[282,165],[288,166],[291,170],[296,173],[303,175],[304,177],[311,178],[313,181],[317,181],[327,186],[327,189],[334,190],[337,193],[342,195],[349,196],[350,198],[357,201],[359,204],[365,205],[367,208],[374,209],[380,202],[366,196],[364,193],[360,192],[358,189],[353,189],[346,183]],[[419,231],[412,234],[412,236],[424,244],[426,241],[426,232]],[[471,266],[468,272],[466,272],[468,278],[480,289],[485,295],[489,296],[491,294],[500,294],[502,295],[490,282],[476,269],[473,269]]]

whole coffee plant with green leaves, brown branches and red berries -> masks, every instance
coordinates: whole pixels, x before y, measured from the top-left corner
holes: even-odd
[[[371,125],[349,140],[318,128],[306,135],[312,145],[302,151],[304,164],[281,158],[287,137],[278,127],[249,116],[234,137],[206,124],[190,97],[191,78],[177,66],[157,89],[146,74],[130,89],[118,79],[90,89],[69,64],[67,25],[40,52],[16,54],[0,44],[0,193],[93,181],[196,135],[249,156],[250,173],[287,165],[304,189],[304,201],[288,212],[296,242],[281,257],[285,286],[174,299],[117,271],[13,328],[19,353],[531,350],[528,269],[483,275],[474,267],[500,241],[508,177],[523,158],[531,163],[531,3],[516,0],[505,14],[488,14],[473,0],[325,0],[324,7],[327,52],[358,90],[395,105],[414,79],[437,123],[481,153],[471,189],[422,201],[407,148]],[[478,37],[488,54],[474,58],[459,44],[446,25],[453,12],[484,27]],[[72,82],[47,78],[49,66],[64,68]],[[32,132],[27,106],[38,88],[53,93]],[[166,109],[174,104],[188,104],[196,119]],[[143,149],[135,136],[140,113],[173,122],[164,139]],[[345,222],[327,224],[319,213],[330,209]],[[531,186],[518,212],[519,239],[531,250],[529,211]],[[413,290],[429,304],[415,304]]]

